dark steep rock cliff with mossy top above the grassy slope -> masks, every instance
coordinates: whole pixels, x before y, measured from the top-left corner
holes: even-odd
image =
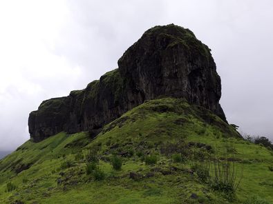
[[[62,131],[96,134],[124,112],[160,96],[183,97],[225,121],[214,59],[190,30],[173,24],[151,28],[126,50],[118,66],[84,90],[41,103],[28,119],[33,141]]]

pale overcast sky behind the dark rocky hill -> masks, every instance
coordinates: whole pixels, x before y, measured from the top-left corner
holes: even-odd
[[[270,0],[1,0],[0,150],[29,139],[41,101],[85,88],[145,30],[169,23],[211,48],[229,123],[273,139],[272,22]]]

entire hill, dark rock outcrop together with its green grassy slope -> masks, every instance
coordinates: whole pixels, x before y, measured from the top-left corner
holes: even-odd
[[[272,148],[227,123],[209,51],[156,26],[119,68],[41,103],[0,160],[0,203],[273,203]]]

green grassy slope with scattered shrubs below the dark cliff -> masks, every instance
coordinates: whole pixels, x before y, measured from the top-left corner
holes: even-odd
[[[95,139],[27,141],[0,161],[0,203],[273,203],[272,170],[272,151],[204,108],[165,98]]]

